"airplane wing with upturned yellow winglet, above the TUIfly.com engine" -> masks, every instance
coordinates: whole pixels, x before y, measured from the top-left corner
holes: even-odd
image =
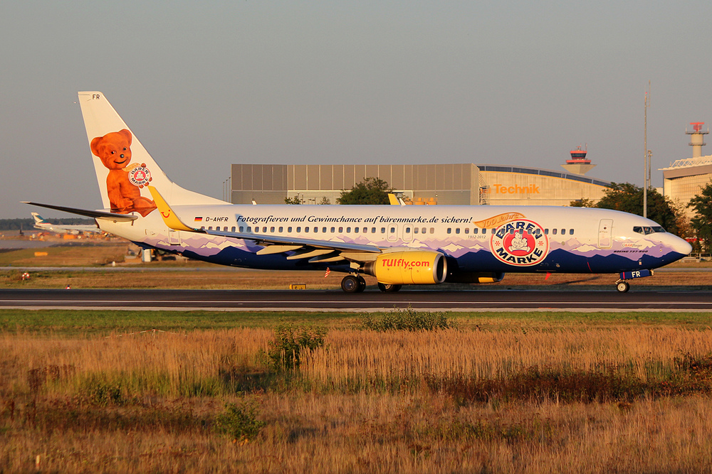
[[[205,230],[186,225],[174,210],[168,205],[163,196],[153,186],[148,186],[154,202],[156,203],[163,221],[172,230],[184,232],[197,232],[206,235],[231,237],[234,239],[251,240],[265,248],[257,252],[258,255],[278,254],[283,252],[296,252],[287,257],[289,260],[309,259],[310,263],[340,262],[350,260],[354,262],[370,262],[375,260],[383,249],[375,245],[352,244],[348,242],[332,242],[329,240],[302,239],[282,235],[261,235],[246,232],[228,232],[226,230]]]

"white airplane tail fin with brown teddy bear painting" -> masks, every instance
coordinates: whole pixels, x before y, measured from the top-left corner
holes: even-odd
[[[224,204],[173,183],[101,92],[78,95],[105,209],[146,217],[157,209],[148,185],[171,205]]]

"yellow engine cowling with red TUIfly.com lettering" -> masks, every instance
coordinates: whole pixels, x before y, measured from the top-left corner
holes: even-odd
[[[445,281],[447,262],[440,252],[404,250],[379,255],[364,270],[382,284],[432,285]]]

